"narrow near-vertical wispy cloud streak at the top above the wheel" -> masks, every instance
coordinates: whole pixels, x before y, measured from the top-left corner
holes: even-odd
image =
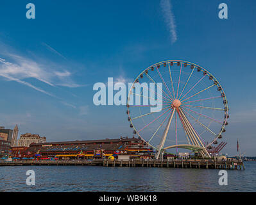
[[[162,8],[162,12],[164,13],[164,20],[167,24],[167,29],[169,30],[171,42],[174,43],[177,40],[176,34],[176,25],[175,25],[175,16],[172,12],[172,6],[170,0],[161,0],[160,6]]]

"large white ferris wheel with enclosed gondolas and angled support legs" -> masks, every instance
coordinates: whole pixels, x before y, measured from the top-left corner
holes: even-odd
[[[133,103],[135,98],[143,104]],[[157,99],[161,104],[146,103]],[[156,106],[160,109],[152,111]],[[130,87],[126,113],[133,134],[155,148],[157,159],[171,149],[176,154],[189,149],[210,157],[229,117],[219,81],[200,65],[183,60],[162,61],[144,69]]]

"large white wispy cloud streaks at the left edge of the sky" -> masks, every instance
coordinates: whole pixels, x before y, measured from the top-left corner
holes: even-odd
[[[66,106],[76,108],[73,104],[65,102],[64,99],[27,81],[28,79],[37,79],[38,81],[49,85],[50,88],[56,86],[65,86],[69,88],[83,86],[73,82],[71,79],[71,72],[64,69],[56,69],[56,66],[51,67],[52,64],[53,63],[48,61],[46,65],[17,54],[2,52],[2,56],[0,57],[0,76],[7,81],[21,83],[22,85],[26,85],[37,90],[38,92],[54,97]]]

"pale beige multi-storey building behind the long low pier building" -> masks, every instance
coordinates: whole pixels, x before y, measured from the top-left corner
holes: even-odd
[[[46,142],[45,136],[33,135],[31,133],[26,133],[21,135],[18,140],[19,147],[29,147],[31,143],[44,143]]]

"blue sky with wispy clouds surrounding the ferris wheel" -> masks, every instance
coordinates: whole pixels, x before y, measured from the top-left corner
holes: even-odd
[[[35,19],[26,19],[26,4]],[[219,3],[228,19],[218,18]],[[255,155],[255,1],[171,1],[176,41],[160,1],[2,1],[0,124],[47,141],[132,136],[125,106],[94,106],[92,86],[130,82],[158,61],[198,63],[230,106],[225,152]]]

